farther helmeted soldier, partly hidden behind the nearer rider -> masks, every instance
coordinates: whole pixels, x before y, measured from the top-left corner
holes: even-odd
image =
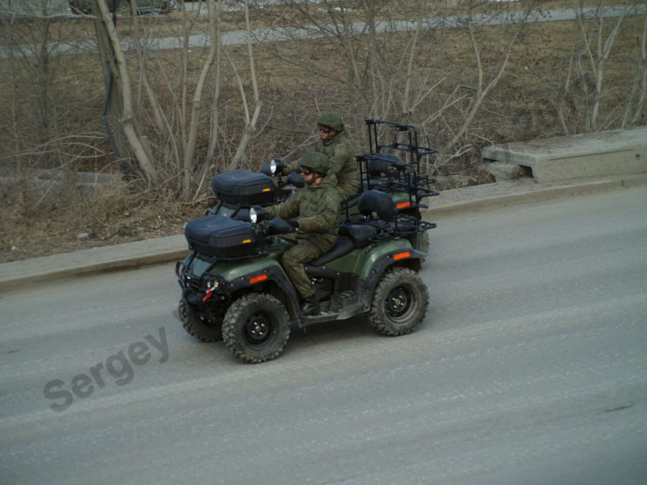
[[[317,120],[320,139],[314,144],[314,151],[323,153],[330,162],[329,172],[337,177],[337,191],[340,202],[349,195],[360,191],[360,173],[357,169],[355,151],[344,133],[344,122],[335,113],[322,113]],[[285,167],[283,173],[299,171],[296,160]]]

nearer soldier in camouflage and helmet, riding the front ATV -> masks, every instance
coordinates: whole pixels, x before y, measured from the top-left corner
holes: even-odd
[[[334,247],[339,231],[339,196],[337,179],[329,171],[329,158],[322,153],[308,152],[299,160],[305,187],[282,204],[271,206],[269,217],[289,219],[298,228],[293,246],[281,257],[281,265],[303,298],[302,313],[310,315],[319,308],[310,280],[305,274],[305,263],[312,261]]]

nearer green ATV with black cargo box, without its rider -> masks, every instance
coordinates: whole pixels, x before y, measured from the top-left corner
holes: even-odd
[[[234,194],[236,195],[236,194]],[[418,272],[426,256],[411,237],[435,224],[399,211],[388,193],[367,190],[356,204],[360,219],[340,224],[334,248],[305,266],[320,313],[304,316],[280,258],[296,229],[264,221],[254,206],[248,221],[206,215],[188,222],[192,253],[175,268],[186,331],[202,341],[224,340],[249,363],[278,356],[293,329],[364,315],[378,332],[408,334],[421,323],[428,291]]]

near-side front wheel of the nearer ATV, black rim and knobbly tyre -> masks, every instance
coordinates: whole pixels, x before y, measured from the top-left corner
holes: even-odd
[[[266,293],[250,293],[232,303],[225,314],[223,337],[234,355],[248,363],[278,356],[290,337],[283,304]]]

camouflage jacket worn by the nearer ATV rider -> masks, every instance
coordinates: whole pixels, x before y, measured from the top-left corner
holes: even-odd
[[[270,206],[267,219],[296,217],[297,239],[324,239],[334,244],[339,231],[337,179],[329,173],[318,185],[307,184],[282,204]]]

